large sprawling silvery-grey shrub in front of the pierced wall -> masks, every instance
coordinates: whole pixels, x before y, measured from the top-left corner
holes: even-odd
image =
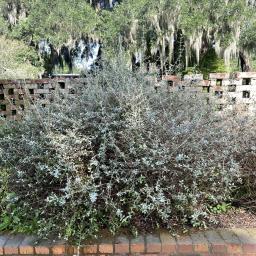
[[[239,179],[236,119],[199,95],[155,93],[122,63],[86,83],[0,131],[22,221],[77,242],[102,229],[205,226]]]

